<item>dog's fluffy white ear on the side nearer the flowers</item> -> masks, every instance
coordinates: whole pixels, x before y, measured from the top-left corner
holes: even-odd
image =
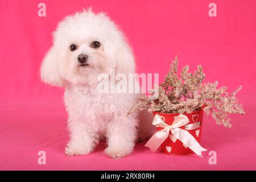
[[[115,73],[128,74],[135,72],[134,55],[129,44],[123,43],[122,46],[119,46],[115,57],[117,60]]]

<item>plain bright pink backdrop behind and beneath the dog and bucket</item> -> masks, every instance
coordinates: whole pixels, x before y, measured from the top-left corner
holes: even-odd
[[[38,3],[47,7],[38,16]],[[217,17],[208,16],[210,2]],[[179,68],[203,65],[205,81],[218,80],[238,93],[246,115],[232,115],[233,127],[204,119],[201,144],[217,152],[217,164],[196,155],[152,153],[139,143],[133,154],[119,160],[103,155],[100,143],[90,155],[64,154],[68,141],[63,90],[44,85],[39,67],[51,46],[51,32],[65,15],[86,7],[105,11],[128,36],[138,72],[159,73],[179,56]],[[0,1],[0,169],[256,169],[255,66],[256,1]],[[37,163],[38,151],[47,164]]]

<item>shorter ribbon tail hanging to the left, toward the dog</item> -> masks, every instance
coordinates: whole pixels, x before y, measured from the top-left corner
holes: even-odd
[[[170,129],[166,128],[160,131],[157,131],[144,145],[149,147],[152,152],[155,152],[158,147],[166,140],[169,136]]]

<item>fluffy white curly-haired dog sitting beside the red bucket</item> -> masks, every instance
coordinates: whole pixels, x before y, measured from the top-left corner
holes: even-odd
[[[70,141],[67,155],[84,155],[107,139],[105,153],[121,158],[133,151],[139,135],[150,137],[150,119],[127,115],[136,94],[98,93],[100,73],[135,72],[133,52],[117,26],[103,13],[91,10],[67,16],[53,34],[53,46],[43,60],[44,82],[65,88]],[[143,116],[145,117],[145,115]],[[139,131],[138,129],[142,129]]]

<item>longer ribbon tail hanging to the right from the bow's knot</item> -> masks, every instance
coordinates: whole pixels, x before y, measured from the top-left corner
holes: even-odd
[[[203,158],[203,155],[201,152],[207,151],[207,149],[200,146],[200,144],[197,142],[197,140],[186,130],[183,129],[173,129],[171,130],[172,134],[179,139],[182,143],[184,143],[187,147],[189,147],[193,152],[196,153],[196,155],[199,155],[201,158]]]

